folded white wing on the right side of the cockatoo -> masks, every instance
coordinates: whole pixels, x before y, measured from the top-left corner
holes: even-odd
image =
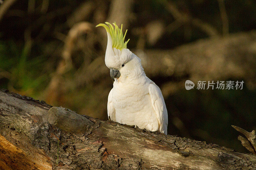
[[[168,114],[162,92],[154,82],[151,82],[149,84],[148,89],[152,106],[156,112],[156,117],[159,124],[159,131],[167,134]]]

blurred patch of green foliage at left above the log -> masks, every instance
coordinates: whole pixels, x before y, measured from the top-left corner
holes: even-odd
[[[12,87],[18,91],[28,91],[34,95],[49,81],[49,74],[42,73],[45,58],[36,56],[29,58],[31,42],[17,45],[14,41],[0,42],[0,70],[7,71],[8,83],[5,88]]]

